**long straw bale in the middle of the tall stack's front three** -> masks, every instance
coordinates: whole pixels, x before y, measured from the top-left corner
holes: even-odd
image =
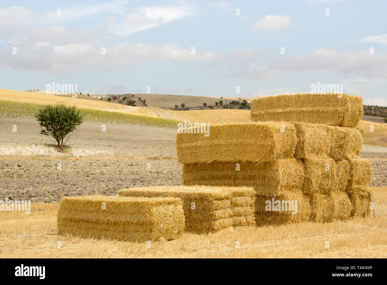
[[[235,162],[211,162],[208,164],[184,164],[184,185],[248,186],[259,195],[279,195],[284,190],[301,190],[304,168],[300,160],[278,159],[274,162],[255,164],[241,162],[236,170]]]

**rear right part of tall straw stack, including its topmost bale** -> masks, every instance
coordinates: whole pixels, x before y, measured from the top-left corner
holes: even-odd
[[[302,192],[309,196],[312,221],[370,214],[371,164],[359,156],[363,141],[355,129],[362,115],[362,98],[347,94],[279,95],[252,101],[252,120],[294,124],[295,157],[305,170]]]

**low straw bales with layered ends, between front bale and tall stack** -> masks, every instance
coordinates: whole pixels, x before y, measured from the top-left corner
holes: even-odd
[[[118,195],[179,198],[183,203],[185,228],[195,233],[255,225],[255,192],[249,187],[142,187],[123,189]]]

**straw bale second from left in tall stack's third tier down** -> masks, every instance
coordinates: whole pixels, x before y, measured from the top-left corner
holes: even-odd
[[[327,194],[336,187],[336,163],[331,158],[310,157],[303,159],[305,167],[305,182],[303,193]]]

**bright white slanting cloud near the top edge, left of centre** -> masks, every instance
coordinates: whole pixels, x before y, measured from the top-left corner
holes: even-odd
[[[128,14],[125,21],[109,26],[108,30],[116,35],[128,36],[195,14],[196,11],[192,5],[142,7]]]

